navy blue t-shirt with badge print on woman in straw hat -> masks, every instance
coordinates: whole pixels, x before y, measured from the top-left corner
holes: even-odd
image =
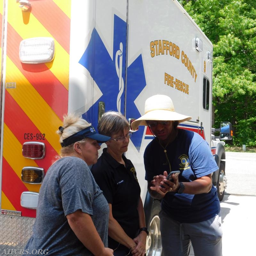
[[[190,182],[218,170],[208,143],[191,131],[178,129],[178,135],[166,147],[172,171],[180,171],[179,181]],[[170,172],[164,149],[155,138],[144,153],[145,179]],[[217,189],[212,185],[209,193],[190,195],[167,193],[161,202],[162,210],[181,223],[197,223],[209,220],[220,212]]]

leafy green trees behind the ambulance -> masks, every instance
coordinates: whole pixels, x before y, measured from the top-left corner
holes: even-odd
[[[179,1],[213,44],[215,127],[230,121],[234,145],[256,146],[256,1]]]

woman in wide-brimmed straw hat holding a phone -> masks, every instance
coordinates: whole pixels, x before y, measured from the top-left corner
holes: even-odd
[[[148,125],[155,139],[144,153],[148,192],[162,199],[160,231],[164,255],[187,256],[192,243],[195,256],[221,256],[220,202],[212,185],[218,166],[205,140],[195,132],[177,129],[191,119],[174,110],[170,97],[154,95],[145,102],[145,115],[132,129]],[[171,171],[180,171],[173,180]]]

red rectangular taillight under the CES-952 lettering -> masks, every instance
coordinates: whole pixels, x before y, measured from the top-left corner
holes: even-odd
[[[42,159],[45,156],[45,145],[43,142],[24,142],[22,155],[30,159]]]

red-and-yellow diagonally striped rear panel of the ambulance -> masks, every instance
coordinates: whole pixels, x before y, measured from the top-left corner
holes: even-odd
[[[5,215],[36,216],[40,183],[59,157],[55,132],[68,110],[70,6],[71,0],[11,0],[1,9],[0,180]]]

